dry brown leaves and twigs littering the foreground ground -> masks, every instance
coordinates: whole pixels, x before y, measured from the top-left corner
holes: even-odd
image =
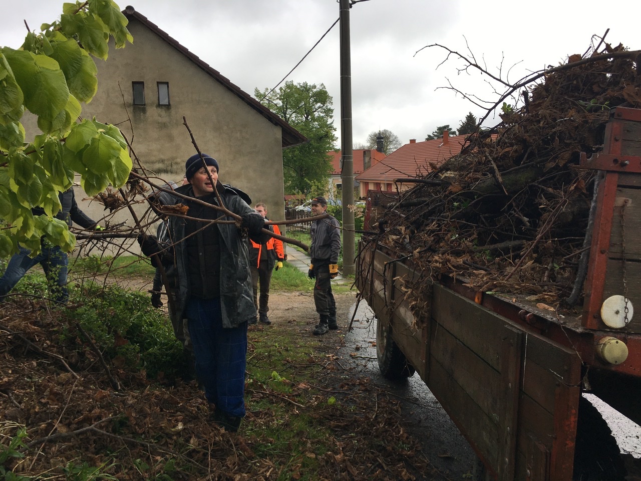
[[[308,360],[310,366],[324,366],[315,385],[292,382],[290,394],[248,385],[247,418],[238,434],[230,434],[210,421],[194,382],[150,382],[144,373],[107,360],[123,386],[114,391],[64,312],[49,311],[40,302],[0,304],[0,441],[15,435],[8,421],[26,426],[29,436],[24,459],[5,465],[16,473],[60,475],[69,462],[87,462],[106,463],[102,472],[123,481],[163,473],[173,480],[299,479],[309,475],[303,457],[317,457],[318,479],[326,480],[414,480],[416,473],[433,471],[403,427],[399,402],[368,379],[346,380],[333,355],[338,337],[328,338],[327,351]],[[279,323],[279,328],[289,326]],[[63,330],[71,335],[65,346],[58,339]],[[292,374],[299,368],[291,366]],[[337,398],[336,405],[328,405],[328,393]],[[260,399],[284,405],[288,414],[253,409]],[[296,457],[267,439],[263,428],[296,430],[298,416],[315,419],[331,433],[327,453],[316,453],[308,441],[306,453]],[[299,435],[306,439],[308,434]],[[165,471],[168,460],[175,462],[171,473]]]

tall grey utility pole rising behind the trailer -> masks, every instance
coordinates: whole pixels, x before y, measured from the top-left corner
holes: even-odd
[[[349,1],[340,0],[340,177],[343,203],[343,275],[354,274],[354,153],[352,149],[352,67]]]

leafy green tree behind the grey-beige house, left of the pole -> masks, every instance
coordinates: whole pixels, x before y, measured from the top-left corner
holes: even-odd
[[[334,150],[337,141],[333,125],[332,98],[322,83],[285,83],[278,91],[267,95],[254,89],[260,103],[278,114],[310,141],[283,151],[285,192],[310,194],[315,181],[327,183],[331,175],[331,161],[327,153]]]

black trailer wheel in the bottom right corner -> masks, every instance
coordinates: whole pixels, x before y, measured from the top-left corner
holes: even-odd
[[[617,441],[599,410],[581,396],[574,448],[574,481],[624,481],[626,468]]]

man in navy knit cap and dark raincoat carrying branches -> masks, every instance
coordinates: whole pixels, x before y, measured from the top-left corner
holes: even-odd
[[[237,431],[245,416],[247,323],[256,319],[244,233],[262,242],[263,217],[244,192],[218,180],[215,158],[192,155],[188,183],[176,194],[161,192],[164,206],[188,207],[169,217],[178,267],[176,316],[186,317],[196,376],[213,410],[213,421]],[[147,254],[147,253],[146,253]]]

